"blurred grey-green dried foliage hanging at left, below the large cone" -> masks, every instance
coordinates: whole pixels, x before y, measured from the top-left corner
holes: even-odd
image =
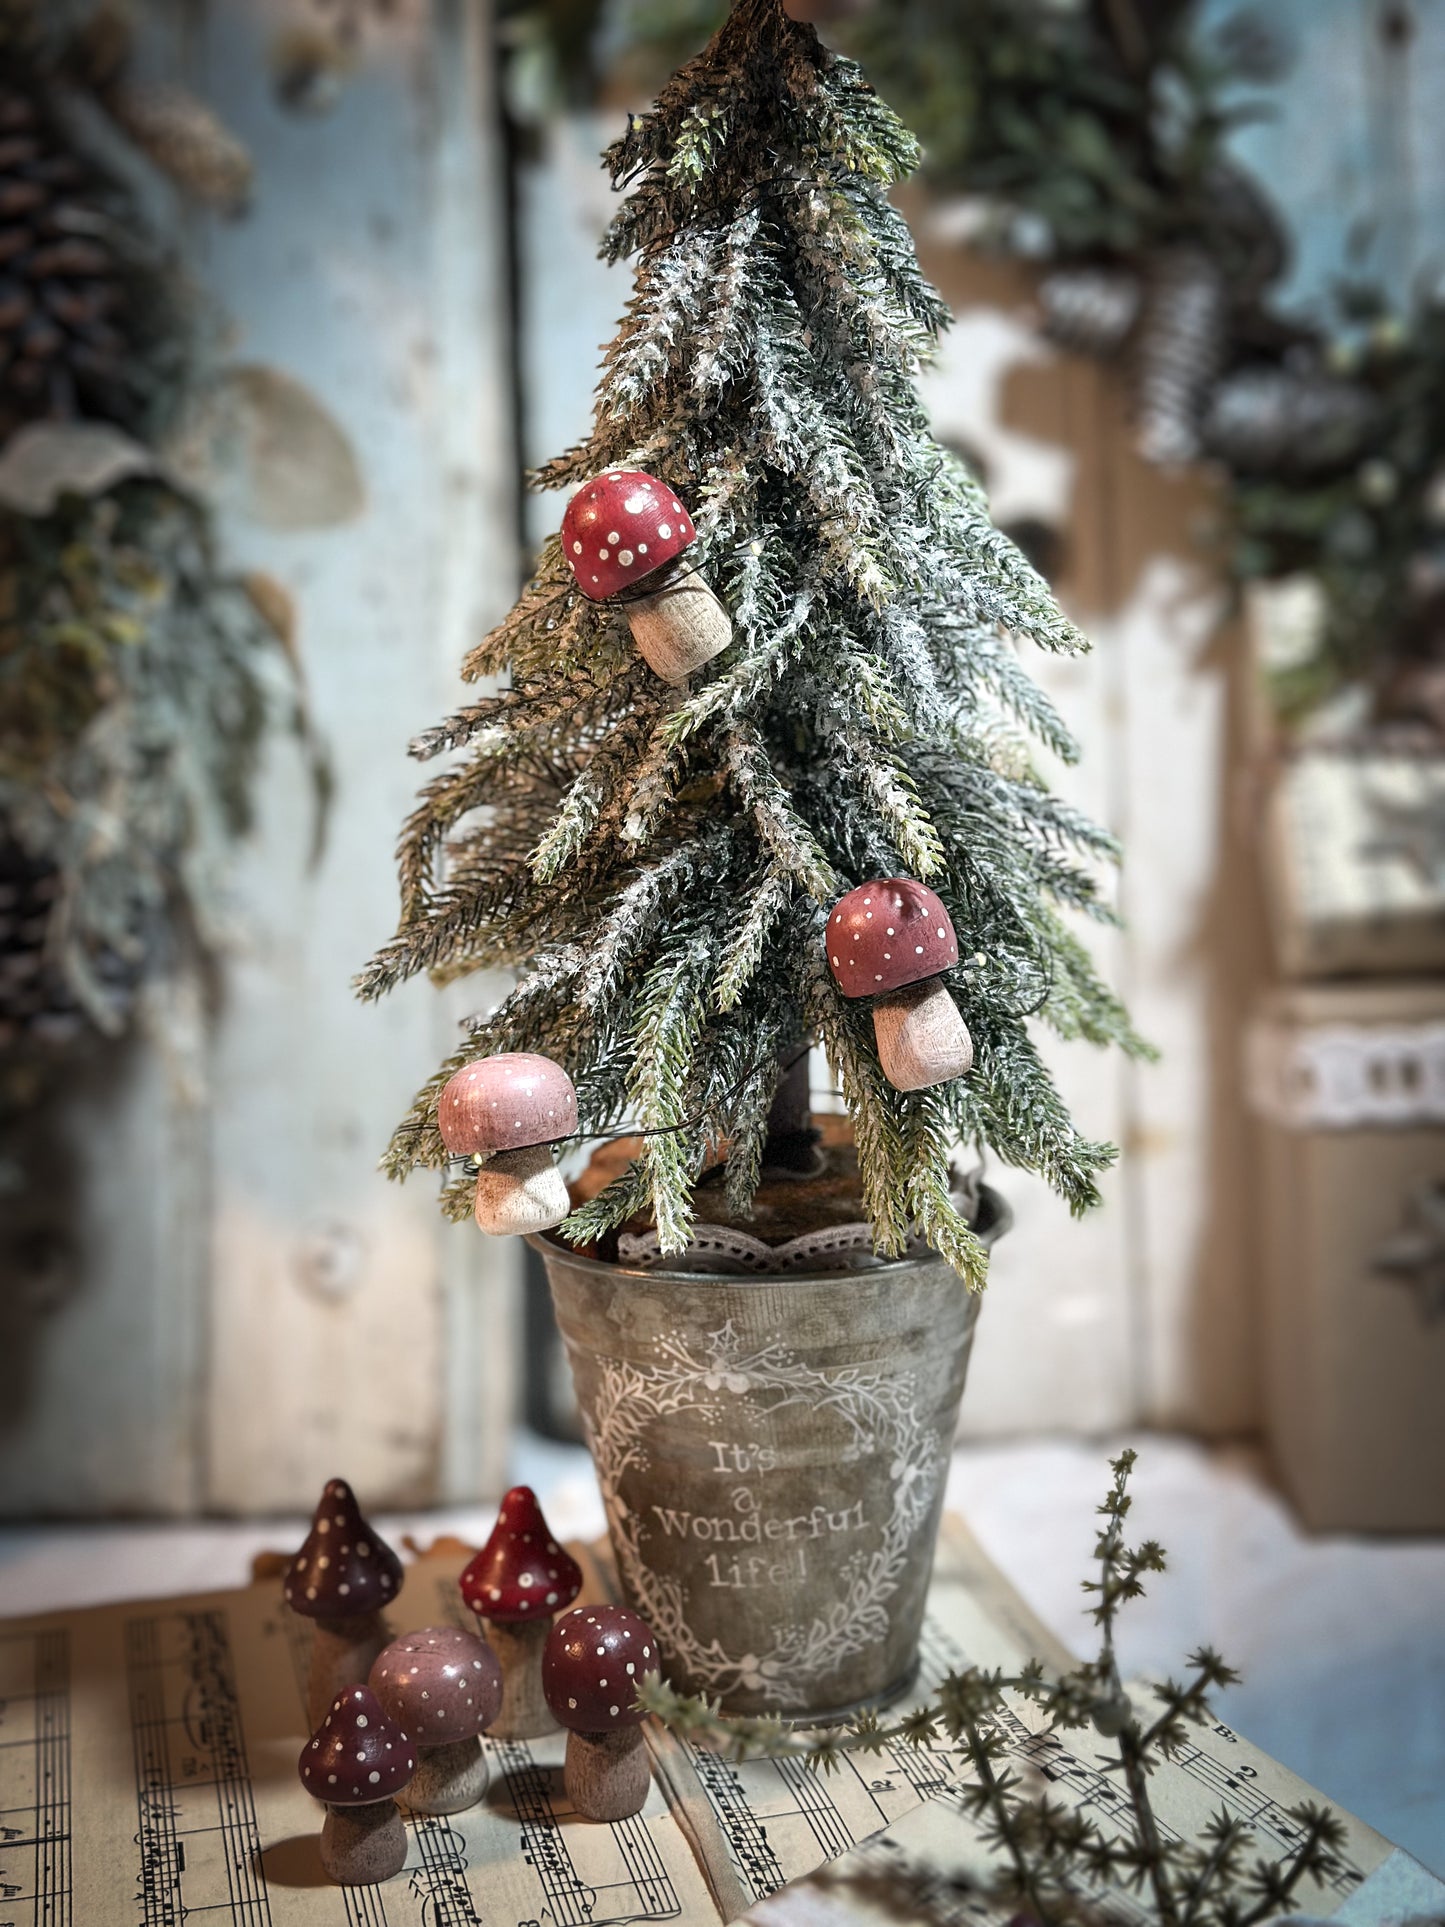
[[[156,482],[0,516],[0,1048],[116,1035],[223,931],[218,852],[264,728],[304,719],[276,632]]]

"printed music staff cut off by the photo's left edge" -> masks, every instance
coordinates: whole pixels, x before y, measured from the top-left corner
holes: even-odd
[[[66,1632],[0,1636],[0,1906],[13,1927],[71,1927]]]

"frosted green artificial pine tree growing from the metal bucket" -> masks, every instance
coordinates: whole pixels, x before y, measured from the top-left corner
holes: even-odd
[[[518,983],[418,1093],[391,1175],[445,1166],[455,1069],[543,1052],[576,1081],[584,1135],[657,1133],[565,1235],[645,1212],[678,1251],[703,1166],[726,1158],[734,1208],[753,1195],[784,1068],[817,1041],[880,1253],[917,1231],[981,1281],[950,1199],[959,1141],[1094,1202],[1114,1150],[1075,1129],[1031,1025],[1137,1048],[1065,921],[1108,919],[1114,844],[1033,771],[1029,736],[1075,750],[1015,649],[1085,644],[929,434],[915,382],[948,312],[888,202],[915,162],[861,71],[780,0],[736,0],[607,152],[626,198],[605,254],[636,258],[636,285],[591,436],[534,480],[657,476],[734,634],[659,680],[626,605],[580,595],[553,540],[468,655],[468,680],[507,686],[414,744],[447,763],[405,825],[401,925],[360,989],[499,965]],[[911,1095],[823,940],[844,892],[894,875],[952,913],[948,989],[975,1043],[967,1075]],[[447,1185],[453,1216],[470,1191]]]

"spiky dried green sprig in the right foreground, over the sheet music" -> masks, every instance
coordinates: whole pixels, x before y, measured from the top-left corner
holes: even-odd
[[[1131,1451],[1112,1461],[1114,1484],[1098,1507],[1098,1571],[1085,1580],[1100,1648],[1067,1673],[1050,1675],[1040,1661],[1015,1675],[969,1667],[898,1721],[867,1713],[821,1734],[790,1732],[776,1719],[724,1719],[707,1700],[674,1694],[657,1675],[644,1680],[638,1703],[680,1738],[728,1759],[794,1757],[821,1773],[834,1771],[844,1754],[929,1748],[946,1736],[971,1769],[961,1811],[992,1856],[992,1875],[979,1883],[977,1896],[996,1906],[1000,1919],[1021,1910],[1037,1927],[1104,1927],[1119,1917],[1110,1892],[1135,1896],[1156,1927],[1258,1927],[1287,1914],[1299,1906],[1302,1883],[1341,1871],[1343,1827],[1326,1808],[1289,1809],[1299,1840],[1285,1860],[1252,1852],[1252,1827],[1227,1811],[1202,1840],[1173,1836],[1156,1821],[1150,1775],[1189,1744],[1191,1729],[1214,1723],[1210,1694],[1237,1675],[1200,1648],[1189,1655],[1183,1680],[1154,1688],[1144,1715],[1125,1692],[1116,1653],[1119,1613],[1141,1597],[1146,1576],[1164,1571],[1164,1549],[1152,1540],[1125,1544],[1133,1466]],[[1127,1798],[1110,1821],[1037,1792],[1015,1773],[1013,1738],[1000,1715],[1017,1700],[1042,1709],[1048,1730],[1092,1727],[1114,1746],[1110,1771]]]

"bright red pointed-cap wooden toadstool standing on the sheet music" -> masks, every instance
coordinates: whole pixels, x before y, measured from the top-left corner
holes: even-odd
[[[489,1730],[501,1740],[555,1732],[541,1692],[541,1650],[553,1613],[576,1599],[582,1569],[557,1544],[530,1486],[512,1486],[501,1501],[491,1538],[460,1584],[501,1661],[501,1711]]]

